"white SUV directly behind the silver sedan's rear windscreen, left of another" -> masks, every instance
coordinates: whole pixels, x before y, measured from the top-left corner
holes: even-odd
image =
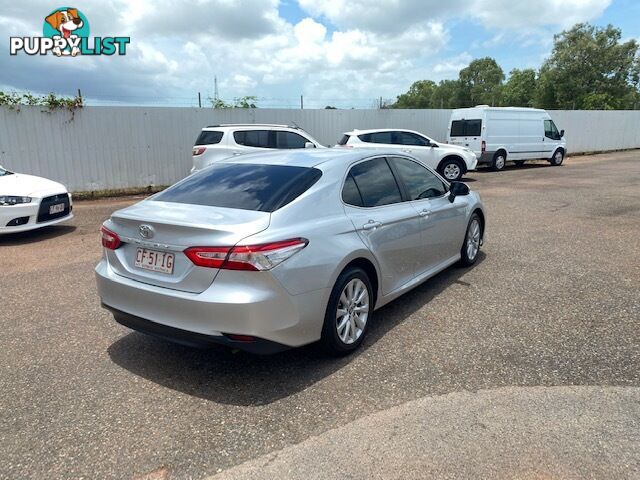
[[[218,160],[274,148],[322,148],[322,145],[295,126],[257,123],[211,125],[203,128],[196,139],[191,173]]]

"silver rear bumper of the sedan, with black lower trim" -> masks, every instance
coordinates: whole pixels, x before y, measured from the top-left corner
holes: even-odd
[[[291,295],[269,272],[223,270],[205,291],[189,293],[123,277],[103,259],[96,280],[103,305],[118,322],[180,343],[229,344],[228,335],[248,335],[259,339],[259,350],[264,341],[298,347],[320,338],[324,320],[325,289]],[[272,347],[267,350],[278,350]]]

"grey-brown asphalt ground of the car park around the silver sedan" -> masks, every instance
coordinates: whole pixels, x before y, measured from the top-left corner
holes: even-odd
[[[640,152],[465,180],[477,264],[379,310],[342,359],[116,324],[98,229],[136,199],[0,237],[0,478],[640,478]]]

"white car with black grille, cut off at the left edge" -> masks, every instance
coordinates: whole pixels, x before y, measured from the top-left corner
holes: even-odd
[[[73,218],[64,185],[0,166],[0,235],[55,225]]]

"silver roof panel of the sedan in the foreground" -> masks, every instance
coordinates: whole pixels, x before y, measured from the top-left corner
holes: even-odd
[[[294,149],[294,150],[274,150],[272,152],[248,153],[238,157],[231,157],[216,163],[249,163],[266,165],[290,165],[294,167],[316,167],[323,163],[340,162],[350,164],[364,158],[393,155],[398,156],[398,152],[385,149],[348,149],[348,148],[326,148],[326,149]]]

